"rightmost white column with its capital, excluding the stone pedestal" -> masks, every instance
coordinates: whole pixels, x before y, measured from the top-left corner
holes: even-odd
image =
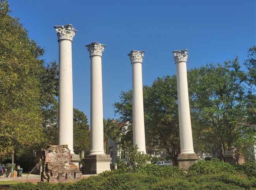
[[[178,88],[178,112],[181,154],[195,154],[188,99],[187,58],[188,50],[173,51]]]

